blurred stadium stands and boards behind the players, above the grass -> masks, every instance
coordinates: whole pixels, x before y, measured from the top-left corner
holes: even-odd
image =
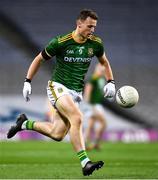
[[[22,97],[26,71],[33,57],[52,37],[75,28],[76,17],[83,8],[98,12],[100,19],[96,34],[104,41],[117,88],[132,85],[140,95],[139,103],[132,109],[122,109],[105,101],[107,133],[111,133],[108,137],[105,134],[105,138],[122,140],[117,137],[126,132],[127,141],[158,139],[156,0],[0,1],[1,139],[6,139],[8,127],[20,112],[26,112],[34,119],[44,119],[46,85],[54,62],[43,64],[34,78],[30,103],[25,103]],[[95,64],[96,59],[86,79]]]

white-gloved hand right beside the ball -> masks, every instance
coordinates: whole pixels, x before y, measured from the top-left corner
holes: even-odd
[[[106,98],[113,98],[116,93],[116,88],[115,88],[115,81],[110,80],[108,83],[104,86],[104,97]]]

